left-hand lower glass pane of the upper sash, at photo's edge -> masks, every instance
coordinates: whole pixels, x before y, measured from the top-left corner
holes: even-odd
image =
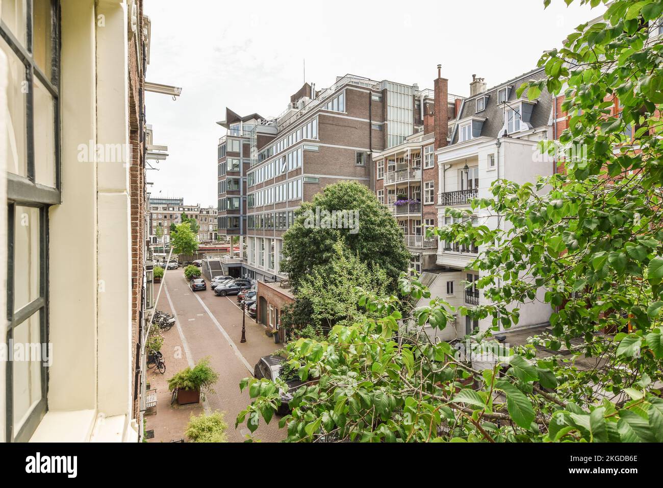
[[[3,21],[5,2],[2,2]],[[25,66],[9,48],[7,42],[0,39],[0,47],[7,56],[7,112],[4,119],[7,121],[5,129],[5,154],[1,155],[7,161],[7,171],[15,175],[28,175],[28,160],[26,156],[26,130],[25,130],[25,95],[28,92],[25,80]],[[4,104],[3,104],[4,105]]]

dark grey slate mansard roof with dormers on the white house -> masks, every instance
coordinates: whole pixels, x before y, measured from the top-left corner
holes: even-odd
[[[462,120],[471,116],[486,118],[487,120],[483,123],[480,135],[483,137],[497,137],[499,135],[500,129],[504,125],[504,110],[501,106],[497,105],[498,90],[504,88],[505,86],[512,87],[511,90],[509,90],[509,98],[507,99],[507,103],[509,103],[510,101],[516,100],[516,90],[521,84],[528,80],[542,80],[544,78],[546,78],[546,72],[544,68],[536,68],[535,70],[526,72],[520,76],[516,76],[516,78],[512,78],[511,80],[493,86],[493,88],[489,88],[485,92],[467,97],[465,100],[463,100],[461,112],[456,120]],[[486,101],[486,108],[477,114],[476,100],[482,96],[488,96],[488,100]],[[526,97],[526,92],[523,94],[523,97]],[[534,106],[534,111],[532,112],[532,118],[530,120],[532,127],[537,128],[548,125],[551,110],[552,98],[548,93],[548,90],[546,90],[544,87],[541,90],[541,94],[538,97],[538,102]],[[457,143],[458,137],[458,127],[456,127],[453,134],[452,144]],[[478,135],[475,134],[475,137],[478,137]]]

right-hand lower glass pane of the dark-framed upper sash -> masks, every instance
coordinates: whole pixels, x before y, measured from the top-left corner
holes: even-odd
[[[34,181],[55,187],[55,110],[46,87],[34,78]]]

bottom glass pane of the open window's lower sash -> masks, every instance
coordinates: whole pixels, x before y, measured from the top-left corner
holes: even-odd
[[[14,356],[12,362],[14,432],[18,432],[32,409],[42,398],[41,367],[42,337],[39,312],[13,329]],[[16,356],[23,351],[23,357]],[[47,352],[47,351],[44,351]]]

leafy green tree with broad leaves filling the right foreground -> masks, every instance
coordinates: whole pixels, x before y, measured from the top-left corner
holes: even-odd
[[[502,229],[434,230],[483,244],[473,266],[491,305],[458,311],[492,317],[475,347],[493,351],[493,365],[475,368],[423,334],[396,339],[399,319],[445,327],[455,310],[442,299],[402,316],[396,297],[365,293],[359,303],[382,318],[289,345],[288,363],[308,383],[282,419],[288,440],[663,442],[663,44],[650,37],[662,14],[661,0],[615,0],[604,21],[546,52],[543,83],[566,97],[570,127],[561,147],[541,149],[562,149],[563,171],[493,183],[492,197],[473,206],[501,216]],[[520,93],[534,98],[540,88]],[[430,297],[416,280],[400,285]],[[497,349],[491,334],[517,323],[518,303],[541,287],[551,332]],[[254,400],[237,422],[255,430],[272,418],[278,393],[265,380],[241,386]]]

